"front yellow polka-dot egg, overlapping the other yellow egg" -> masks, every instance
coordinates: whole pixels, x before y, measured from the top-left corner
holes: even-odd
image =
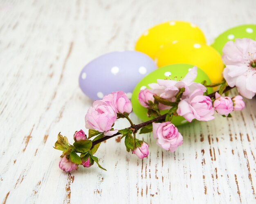
[[[195,40],[177,40],[160,49],[155,62],[158,67],[168,64],[193,64],[200,67],[212,83],[222,80],[224,64],[220,54],[211,46]]]

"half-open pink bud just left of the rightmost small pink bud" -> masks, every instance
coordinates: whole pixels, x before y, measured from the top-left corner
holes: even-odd
[[[215,94],[216,100],[213,102],[214,109],[220,115],[229,115],[233,111],[233,101],[229,97],[222,97],[218,92]]]

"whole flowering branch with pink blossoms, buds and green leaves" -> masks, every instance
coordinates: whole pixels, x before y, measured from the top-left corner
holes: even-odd
[[[210,121],[215,118],[215,112],[223,117],[231,117],[232,111],[243,110],[245,102],[241,95],[252,98],[256,93],[256,41],[245,38],[228,42],[223,49],[222,60],[226,64],[224,80],[218,84],[194,82],[198,68],[193,67],[182,80],[159,79],[157,83],[148,84],[149,89],[141,90],[138,95],[139,103],[148,109],[148,117],[153,116],[158,120],[133,124],[129,118],[132,104],[123,91],[112,92],[102,100],[94,101],[85,115],[88,136],[83,130],[76,131],[75,142],[71,145],[67,137],[58,134],[54,148],[63,151],[59,168],[70,172],[78,169],[79,164],[88,168],[96,162],[104,169],[99,165],[94,153],[102,141],[116,135],[125,138],[128,152],[131,151],[140,159],[148,157],[148,144],[136,138],[139,129],[139,133],[152,131],[158,146],[174,152],[183,144],[183,136],[172,123],[173,117],[181,116],[188,122]],[[219,91],[216,91],[215,95],[207,95],[207,87],[216,86],[220,87]],[[227,86],[236,86],[241,95],[231,98],[226,92],[224,96]],[[163,110],[168,112],[162,115]],[[115,129],[115,122],[119,118],[126,118],[131,126],[122,130]],[[77,153],[80,153],[80,156]]]

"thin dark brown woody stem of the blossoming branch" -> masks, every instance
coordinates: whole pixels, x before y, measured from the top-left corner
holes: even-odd
[[[223,91],[223,93],[225,93],[225,92],[227,92],[227,91],[229,91],[229,90],[231,90],[231,89],[233,89],[233,88],[235,88],[235,87],[236,87],[236,86],[234,86],[234,87],[227,86],[226,89]],[[216,93],[216,92],[218,92],[218,91],[215,91],[215,92],[213,92],[213,93],[210,93],[210,94],[208,94],[207,96],[209,96],[210,98],[215,97],[215,93]],[[136,132],[137,132],[139,129],[141,129],[142,127],[147,126],[147,125],[149,125],[149,124],[151,124],[151,123],[153,123],[153,122],[164,121],[165,118],[166,118],[166,114],[161,115],[161,116],[159,116],[159,117],[157,117],[157,118],[154,118],[154,119],[152,119],[152,120],[148,120],[148,121],[146,121],[146,122],[143,122],[143,123],[134,125],[133,127],[130,127],[130,129],[132,129],[132,131],[136,133]],[[99,144],[99,143],[101,143],[101,142],[104,142],[104,141],[106,141],[106,140],[108,140],[108,139],[110,139],[110,138],[112,138],[112,137],[115,137],[115,136],[117,136],[117,135],[120,135],[120,134],[121,134],[121,133],[116,133],[116,134],[111,135],[111,136],[102,137],[101,139],[92,142],[92,148],[94,147],[94,145]]]

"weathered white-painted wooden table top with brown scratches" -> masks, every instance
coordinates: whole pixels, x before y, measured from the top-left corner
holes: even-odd
[[[97,152],[107,172],[58,168],[58,132],[72,140],[92,104],[78,85],[83,66],[134,49],[143,31],[168,20],[198,24],[213,42],[256,23],[255,0],[0,0],[0,202],[256,203],[255,98],[233,118],[182,126],[175,153],[143,135],[150,155],[141,161],[113,138]]]

